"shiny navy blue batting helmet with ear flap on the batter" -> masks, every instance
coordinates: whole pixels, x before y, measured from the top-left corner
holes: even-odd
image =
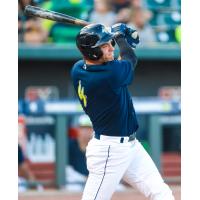
[[[76,45],[86,59],[98,60],[103,53],[100,46],[112,42],[114,35],[102,24],[90,24],[81,29],[76,37]]]

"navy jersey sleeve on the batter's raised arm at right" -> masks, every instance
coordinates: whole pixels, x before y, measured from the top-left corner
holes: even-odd
[[[121,87],[130,85],[133,80],[133,66],[127,60],[115,60],[112,63],[112,85]]]

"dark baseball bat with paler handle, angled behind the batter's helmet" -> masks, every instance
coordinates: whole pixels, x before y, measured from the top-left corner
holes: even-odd
[[[81,19],[77,19],[75,17],[59,13],[59,12],[54,12],[51,10],[45,10],[40,7],[36,6],[26,6],[24,13],[29,16],[35,16],[35,17],[40,17],[43,19],[49,19],[52,21],[56,22],[61,22],[65,24],[74,24],[74,25],[80,25],[80,26],[86,26],[89,25],[90,23]]]

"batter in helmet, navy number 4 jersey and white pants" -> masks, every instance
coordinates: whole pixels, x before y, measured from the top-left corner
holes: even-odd
[[[174,200],[155,164],[136,139],[138,122],[127,86],[131,84],[139,37],[125,24],[81,29],[76,38],[83,60],[73,66],[74,88],[93,124],[86,148],[89,176],[82,200],[110,200],[120,180],[151,200]],[[120,56],[114,59],[114,44]]]

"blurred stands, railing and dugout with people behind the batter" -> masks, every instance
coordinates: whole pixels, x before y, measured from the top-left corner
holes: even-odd
[[[81,27],[27,17],[26,5],[138,30],[139,60],[129,87],[140,125],[137,137],[165,181],[180,185],[181,0],[18,0],[19,192],[81,192],[93,131],[70,78],[81,58],[75,46]],[[118,190],[127,188],[122,182]]]

